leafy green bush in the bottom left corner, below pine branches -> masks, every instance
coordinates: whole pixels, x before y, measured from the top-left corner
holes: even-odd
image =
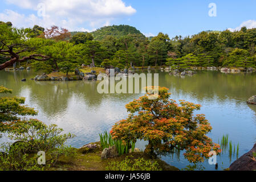
[[[74,156],[76,150],[64,145],[74,135],[61,134],[62,131],[56,125],[46,126],[36,119],[16,123],[9,138],[18,142],[2,144],[0,170],[43,170],[55,164],[61,155]],[[38,164],[39,151],[46,153],[46,166]]]

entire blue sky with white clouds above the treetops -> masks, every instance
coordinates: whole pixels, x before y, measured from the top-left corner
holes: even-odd
[[[15,27],[52,25],[94,31],[128,24],[147,36],[256,28],[255,0],[1,0],[0,20]]]

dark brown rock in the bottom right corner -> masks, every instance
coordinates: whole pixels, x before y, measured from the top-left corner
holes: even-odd
[[[229,167],[230,171],[255,171],[256,170],[256,160],[253,153],[256,152],[256,144],[253,149],[247,152],[241,158],[235,160],[234,163]]]

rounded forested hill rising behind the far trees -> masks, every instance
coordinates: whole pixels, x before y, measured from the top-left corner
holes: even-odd
[[[78,32],[71,32],[71,35],[75,35],[76,33]],[[131,27],[128,25],[113,25],[99,28],[96,31],[91,32],[91,34],[94,36],[94,40],[103,40],[107,35],[111,35],[119,39],[128,34],[141,34],[141,32],[137,30],[135,27]]]

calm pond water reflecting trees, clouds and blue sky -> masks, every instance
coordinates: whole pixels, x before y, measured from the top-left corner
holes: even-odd
[[[195,114],[205,114],[213,127],[209,137],[218,143],[228,134],[235,146],[239,143],[238,157],[251,150],[256,142],[256,106],[247,105],[246,100],[256,94],[256,73],[225,74],[218,71],[200,71],[193,76],[170,76],[160,73],[159,86],[169,88],[172,99],[201,104]],[[0,71],[0,85],[13,89],[13,96],[26,97],[26,105],[39,111],[36,118],[44,123],[55,123],[65,133],[76,135],[67,144],[81,147],[99,141],[99,133],[110,131],[112,126],[128,113],[125,105],[142,94],[99,94],[97,82],[36,82],[30,80],[32,71]],[[27,78],[22,82],[22,78]],[[2,138],[0,142],[6,142]],[[143,149],[144,141],[137,142]],[[228,168],[237,155],[224,152],[217,157],[218,170]],[[162,156],[165,162],[177,168],[189,165],[180,155]],[[208,160],[202,164],[206,170],[216,170]],[[199,169],[199,168],[197,168]]]

